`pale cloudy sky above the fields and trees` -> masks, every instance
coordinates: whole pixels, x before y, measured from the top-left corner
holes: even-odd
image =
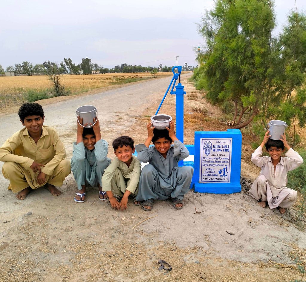
[[[297,0],[299,11],[304,0]],[[211,0],[8,0],[0,5],[0,65],[82,58],[115,65],[194,65],[197,24]],[[295,3],[276,0],[278,34]]]

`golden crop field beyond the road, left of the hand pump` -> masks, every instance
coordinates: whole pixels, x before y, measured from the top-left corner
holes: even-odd
[[[156,76],[171,76],[172,72],[158,72]],[[125,84],[152,78],[148,72],[107,73],[95,75],[63,75],[62,84],[69,95],[109,85]],[[26,102],[29,91],[51,90],[47,76],[0,76],[0,108],[16,106]]]

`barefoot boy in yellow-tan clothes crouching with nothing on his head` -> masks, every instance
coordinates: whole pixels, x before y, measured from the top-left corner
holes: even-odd
[[[43,125],[45,117],[39,104],[23,104],[18,115],[25,128],[0,148],[3,176],[19,200],[44,185],[53,196],[60,195],[55,186],[62,186],[71,169],[64,144],[54,128]]]

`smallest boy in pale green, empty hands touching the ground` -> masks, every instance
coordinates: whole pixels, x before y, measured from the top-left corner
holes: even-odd
[[[134,140],[129,136],[121,136],[115,139],[112,145],[116,158],[105,169],[102,177],[103,189],[114,209],[126,209],[129,195],[132,195],[134,205],[139,206],[140,202],[136,200],[136,195],[140,161],[133,156]]]

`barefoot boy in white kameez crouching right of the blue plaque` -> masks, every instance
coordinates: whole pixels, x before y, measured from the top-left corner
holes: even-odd
[[[249,194],[259,201],[263,208],[268,203],[270,209],[278,208],[280,213],[285,213],[285,209],[293,206],[297,200],[297,191],[286,187],[287,173],[299,167],[303,158],[290,148],[285,133],[279,140],[273,140],[269,138],[269,132],[266,132],[263,142],[252,154],[252,162],[261,167],[261,171]],[[261,157],[264,145],[270,157]],[[288,152],[282,157],[285,148]]]

